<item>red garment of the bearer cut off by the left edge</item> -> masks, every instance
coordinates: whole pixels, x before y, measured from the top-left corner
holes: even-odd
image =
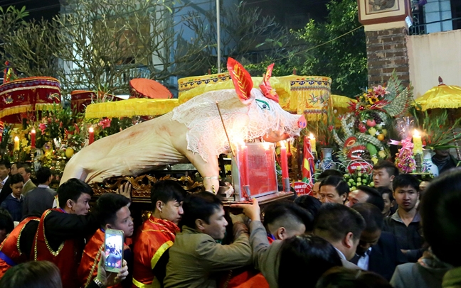
[[[1,243],[0,252],[4,253],[6,257],[9,257],[9,260],[16,263],[16,265],[26,262],[28,260],[28,255],[24,255],[19,250],[19,240],[21,239],[21,232],[23,227],[26,226],[29,221],[40,221],[40,218],[31,216],[25,218],[21,223],[16,226],[9,236]],[[4,276],[7,270],[12,266],[6,263],[5,260],[1,259],[3,256],[0,256],[0,279]]]

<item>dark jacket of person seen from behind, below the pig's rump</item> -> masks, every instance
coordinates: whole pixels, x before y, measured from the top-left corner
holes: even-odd
[[[38,187],[28,192],[24,198],[23,215],[33,212],[43,214],[48,209],[53,208],[53,201],[56,192],[45,187]]]

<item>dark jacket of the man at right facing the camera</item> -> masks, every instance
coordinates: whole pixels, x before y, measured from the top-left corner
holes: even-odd
[[[424,238],[420,221],[420,214],[417,213],[413,221],[406,226],[398,215],[398,209],[391,217],[384,219],[383,231],[396,236],[401,249],[408,250],[406,257],[409,262],[416,262],[423,255]]]

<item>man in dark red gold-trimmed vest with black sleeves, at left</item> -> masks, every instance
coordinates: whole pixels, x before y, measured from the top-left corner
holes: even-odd
[[[58,266],[63,287],[78,288],[78,265],[85,236],[95,233],[98,223],[90,209],[91,187],[72,178],[58,188],[58,209],[46,210],[33,241],[33,260],[47,260]]]

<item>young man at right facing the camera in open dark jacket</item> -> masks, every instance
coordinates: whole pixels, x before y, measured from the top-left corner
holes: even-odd
[[[384,221],[383,231],[396,236],[403,254],[410,262],[423,255],[424,239],[420,226],[420,214],[416,210],[419,198],[419,181],[413,175],[402,174],[393,179],[393,197],[398,209]]]

